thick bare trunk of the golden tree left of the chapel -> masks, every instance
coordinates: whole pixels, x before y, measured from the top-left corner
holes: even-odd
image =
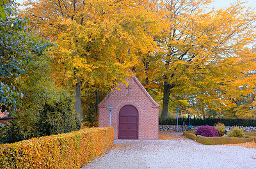
[[[81,121],[84,120],[83,114],[82,114],[82,94],[81,94],[81,82],[77,79],[77,84],[74,86],[75,91],[75,110],[77,115],[79,116],[79,119]]]

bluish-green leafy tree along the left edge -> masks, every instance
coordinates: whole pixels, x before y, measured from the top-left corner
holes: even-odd
[[[45,48],[50,45],[38,40],[35,34],[29,33],[26,20],[17,17],[15,2],[1,4],[0,17],[0,108],[16,115],[22,105],[23,91],[29,90],[24,78],[35,79],[40,84],[40,75],[34,74],[30,68],[44,73],[47,66],[43,64]],[[1,9],[0,9],[1,10]],[[4,12],[4,15],[2,15]],[[47,60],[47,59],[46,59]],[[33,65],[33,66],[31,66]],[[38,78],[35,78],[38,75]],[[24,88],[24,85],[27,88]]]

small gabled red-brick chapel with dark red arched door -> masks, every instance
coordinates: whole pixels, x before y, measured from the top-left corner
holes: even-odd
[[[119,90],[118,90],[119,89]],[[129,85],[119,85],[99,104],[99,127],[114,127],[115,139],[158,139],[159,105],[139,80],[129,78]],[[109,121],[111,110],[111,121]]]

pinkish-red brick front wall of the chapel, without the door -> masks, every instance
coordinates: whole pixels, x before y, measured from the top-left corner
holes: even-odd
[[[118,115],[125,105],[132,105],[138,110],[138,138],[158,139],[159,105],[150,97],[136,77],[129,79],[129,89],[126,85],[119,85],[99,104],[99,127],[109,126],[109,110],[111,111],[111,126],[114,127],[114,137],[118,138]]]

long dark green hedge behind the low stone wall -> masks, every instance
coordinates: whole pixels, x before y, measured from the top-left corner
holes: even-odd
[[[179,118],[179,125],[183,125],[185,122],[188,125],[188,118]],[[256,126],[256,119],[224,119],[224,118],[205,118],[205,119],[191,119],[193,126],[214,126],[218,122],[225,124],[225,126]],[[161,121],[159,119],[159,125],[176,125],[177,119],[166,119]]]

